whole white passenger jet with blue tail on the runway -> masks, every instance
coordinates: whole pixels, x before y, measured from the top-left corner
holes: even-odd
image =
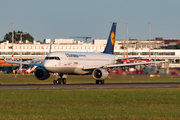
[[[66,74],[88,75],[92,74],[96,84],[104,84],[104,80],[109,75],[109,70],[114,67],[152,64],[155,62],[116,64],[118,57],[113,55],[115,44],[116,23],[112,24],[107,45],[102,53],[88,52],[65,52],[56,51],[49,53],[43,61],[43,64],[28,63],[19,61],[5,60],[12,64],[26,64],[38,66],[35,71],[35,77],[38,80],[46,80],[50,73],[58,73],[59,78],[54,80],[54,84],[66,84]],[[122,58],[123,59],[123,58]],[[126,58],[125,58],[126,59]],[[164,62],[164,61],[158,61]]]

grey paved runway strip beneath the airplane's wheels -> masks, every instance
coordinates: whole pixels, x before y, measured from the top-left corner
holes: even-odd
[[[133,88],[179,88],[180,82],[176,83],[105,83],[99,84],[19,84],[0,85],[0,90],[59,90],[59,89],[133,89]]]

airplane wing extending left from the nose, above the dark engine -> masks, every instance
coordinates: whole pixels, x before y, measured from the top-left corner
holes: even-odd
[[[20,61],[11,61],[11,60],[4,60],[4,62],[11,63],[11,64],[23,64],[23,65],[43,67],[43,64],[40,64],[40,63],[20,62]]]

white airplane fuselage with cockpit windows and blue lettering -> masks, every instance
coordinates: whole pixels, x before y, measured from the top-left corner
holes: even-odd
[[[87,74],[90,71],[83,70],[84,66],[105,66],[116,60],[111,54],[57,51],[48,54],[43,64],[49,72]]]

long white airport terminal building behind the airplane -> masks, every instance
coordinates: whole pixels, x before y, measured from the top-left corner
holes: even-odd
[[[19,60],[21,55],[23,60],[41,59],[53,51],[102,52],[106,43],[107,40],[100,39],[94,39],[93,42],[75,41],[74,39],[55,39],[54,42],[51,42],[49,39],[45,39],[43,44],[34,42],[31,44],[14,43],[13,45],[6,41],[0,44],[0,60],[4,59],[3,56],[11,59],[12,51],[15,60]],[[174,41],[173,44],[175,44]],[[179,63],[180,50],[160,49],[162,46],[167,46],[162,40],[116,40],[114,54],[118,57],[124,57],[126,54],[128,57],[142,57],[143,59],[151,57],[151,59],[171,60]]]

